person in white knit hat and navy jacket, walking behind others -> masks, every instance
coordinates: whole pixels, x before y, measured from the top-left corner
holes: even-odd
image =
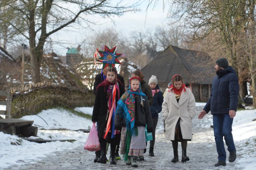
[[[153,122],[153,132],[152,132],[153,140],[150,141],[149,156],[154,157],[156,125],[158,121],[158,113],[162,111],[162,103],[164,101],[164,97],[163,97],[163,93],[159,90],[156,76],[152,75],[152,77],[148,81],[148,84],[152,89],[152,94],[154,99],[153,105],[150,106],[150,112],[152,115],[152,122]]]

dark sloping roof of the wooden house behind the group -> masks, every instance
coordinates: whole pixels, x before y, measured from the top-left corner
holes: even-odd
[[[180,74],[185,83],[211,84],[215,75],[213,64],[210,56],[203,51],[170,45],[141,71],[145,81],[155,75],[158,82],[169,83],[173,75]]]

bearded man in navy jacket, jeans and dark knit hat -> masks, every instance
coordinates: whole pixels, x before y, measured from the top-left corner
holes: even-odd
[[[238,104],[239,84],[235,70],[228,66],[226,58],[219,58],[214,67],[217,76],[213,78],[210,98],[200,112],[202,119],[209,111],[213,115],[213,131],[218,152],[218,162],[214,166],[226,165],[226,151],[223,136],[228,146],[229,162],[236,160],[236,148],[232,136],[232,123]]]

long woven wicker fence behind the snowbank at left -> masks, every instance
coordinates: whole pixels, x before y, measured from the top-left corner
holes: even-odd
[[[29,114],[18,108],[37,114],[44,109],[58,106],[90,107],[94,104],[94,98],[93,91],[82,92],[65,86],[42,84],[42,86],[30,86],[26,91],[21,92],[12,89],[11,116],[19,118]]]

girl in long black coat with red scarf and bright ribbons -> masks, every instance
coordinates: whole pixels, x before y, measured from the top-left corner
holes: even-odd
[[[92,112],[92,122],[98,122],[98,137],[101,147],[101,156],[98,163],[107,163],[106,145],[110,143],[110,164],[116,164],[115,111],[119,98],[125,90],[117,78],[116,68],[107,70],[107,78],[98,85]]]

